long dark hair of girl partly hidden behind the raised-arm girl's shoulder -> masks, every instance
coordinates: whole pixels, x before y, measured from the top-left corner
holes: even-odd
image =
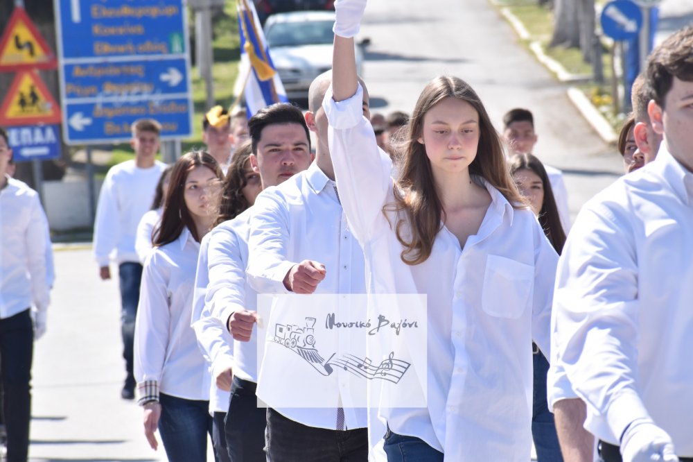
[[[514,175],[519,170],[527,169],[533,171],[541,178],[541,184],[544,187],[544,201],[541,204],[541,210],[537,218],[554,250],[561,255],[563,244],[565,244],[565,231],[563,231],[563,225],[561,225],[559,207],[556,206],[554,191],[551,188],[551,182],[544,165],[541,163],[541,160],[538,160],[532,154],[516,154],[510,158],[509,163],[511,175]]]

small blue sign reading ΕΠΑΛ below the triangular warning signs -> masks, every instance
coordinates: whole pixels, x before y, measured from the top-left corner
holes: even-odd
[[[15,162],[60,157],[60,128],[57,125],[15,126],[6,130]]]

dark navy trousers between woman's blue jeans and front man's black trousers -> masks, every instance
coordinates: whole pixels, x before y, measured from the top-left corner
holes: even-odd
[[[234,377],[224,431],[231,462],[265,462],[267,411],[258,408],[257,384]]]

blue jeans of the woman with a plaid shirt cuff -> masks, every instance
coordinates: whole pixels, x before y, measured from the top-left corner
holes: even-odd
[[[159,434],[170,462],[206,462],[207,434],[212,434],[209,401],[159,394]]]

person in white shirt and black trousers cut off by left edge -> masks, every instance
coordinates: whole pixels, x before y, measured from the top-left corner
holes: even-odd
[[[12,156],[0,128],[0,364],[8,461],[29,447],[33,341],[46,332],[46,214],[33,189],[6,174]],[[48,241],[50,243],[50,241]],[[32,326],[31,307],[35,307]]]

